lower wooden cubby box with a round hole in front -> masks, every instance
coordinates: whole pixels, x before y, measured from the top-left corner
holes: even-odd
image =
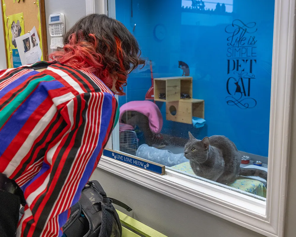
[[[198,99],[167,102],[166,120],[192,124],[192,117],[205,118],[205,101]]]

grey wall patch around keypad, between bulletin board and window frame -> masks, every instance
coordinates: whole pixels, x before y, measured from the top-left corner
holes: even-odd
[[[48,26],[48,17],[54,13],[64,13],[66,20],[66,31],[70,29],[77,20],[86,15],[85,0],[45,0],[45,15],[46,15],[46,28],[47,28],[47,45],[48,53],[53,52],[50,46],[50,34]]]

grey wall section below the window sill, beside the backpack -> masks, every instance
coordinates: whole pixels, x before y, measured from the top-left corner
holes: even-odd
[[[96,169],[91,179],[98,180],[108,196],[133,209],[131,213],[118,210],[169,237],[262,237],[102,169]]]

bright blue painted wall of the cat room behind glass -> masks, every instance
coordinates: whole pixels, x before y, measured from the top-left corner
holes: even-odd
[[[232,13],[209,14],[184,9],[181,0],[133,0],[131,17],[131,2],[116,0],[116,18],[133,32],[142,56],[152,60],[154,77],[181,76],[178,61],[184,61],[193,77],[193,98],[205,100],[207,124],[201,129],[166,121],[165,103],[157,103],[164,118],[163,133],[187,137],[191,131],[200,139],[214,134],[225,135],[239,150],[267,156],[274,21],[274,1],[268,2],[233,0]],[[165,39],[161,42],[153,34],[157,24],[166,28]],[[247,31],[242,34],[245,29]],[[231,32],[238,30],[231,42]],[[234,43],[237,37],[239,43]],[[235,55],[231,53],[233,50]],[[242,93],[236,92],[238,87],[234,82],[238,82]],[[131,73],[125,88],[126,96],[119,98],[120,105],[144,100],[150,86],[148,63]],[[227,104],[229,100],[234,103]]]

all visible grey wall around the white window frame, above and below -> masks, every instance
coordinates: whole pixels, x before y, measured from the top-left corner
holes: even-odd
[[[84,0],[46,0],[46,18],[52,13],[62,12],[69,29],[79,18],[85,15]],[[67,13],[68,12],[68,13]],[[46,19],[48,26],[48,19]],[[0,22],[0,31],[2,24]],[[48,28],[48,27],[47,27]],[[48,46],[50,36],[48,35]],[[1,38],[1,37],[0,37]],[[2,39],[0,39],[0,46]],[[2,54],[0,48],[0,55]],[[51,51],[49,51],[51,52]],[[4,54],[5,55],[5,54]],[[2,57],[1,57],[2,58]],[[4,57],[5,58],[5,57]],[[0,60],[1,67],[1,60]],[[296,92],[296,84],[294,85]],[[294,93],[295,94],[295,93]],[[296,233],[296,101],[293,99],[293,124],[291,140],[291,158],[289,167],[289,184],[287,194],[287,214],[285,237],[294,237]],[[295,145],[294,145],[295,144]],[[293,146],[294,145],[294,146]],[[231,222],[183,204],[161,195],[143,186],[120,178],[101,169],[96,169],[93,179],[99,180],[107,194],[119,199],[133,208],[129,213],[135,219],[170,237],[262,237]]]

